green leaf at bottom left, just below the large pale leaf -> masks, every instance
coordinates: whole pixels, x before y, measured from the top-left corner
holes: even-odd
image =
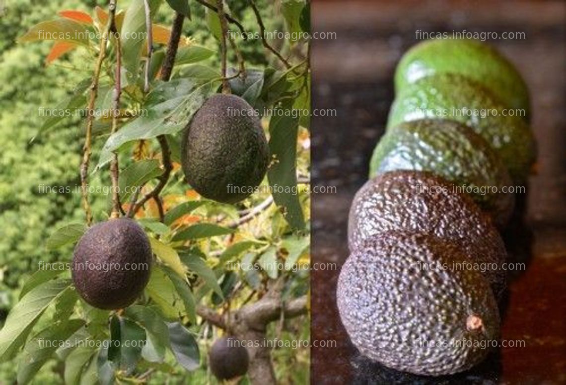
[[[59,344],[84,325],[82,319],[56,322],[37,333],[25,345],[18,367],[18,384],[27,384],[38,370],[52,358]]]

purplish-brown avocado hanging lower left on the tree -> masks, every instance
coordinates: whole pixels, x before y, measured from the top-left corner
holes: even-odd
[[[143,229],[131,219],[110,219],[80,238],[73,254],[72,280],[90,305],[122,309],[143,292],[151,263],[151,245]]]

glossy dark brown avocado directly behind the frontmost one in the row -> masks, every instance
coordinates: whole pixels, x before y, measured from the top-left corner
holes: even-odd
[[[370,179],[354,196],[348,217],[348,246],[388,231],[432,234],[457,242],[471,263],[482,270],[496,298],[506,287],[501,264],[507,259],[503,239],[470,196],[430,172],[394,171]]]

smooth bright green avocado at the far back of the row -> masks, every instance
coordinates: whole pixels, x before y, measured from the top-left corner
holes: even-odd
[[[530,117],[529,89],[511,62],[490,45],[468,39],[423,41],[409,49],[395,71],[395,89],[435,74],[459,74],[488,88],[511,109]]]

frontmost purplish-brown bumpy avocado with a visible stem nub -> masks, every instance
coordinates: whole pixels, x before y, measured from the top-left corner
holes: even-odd
[[[464,259],[457,243],[427,234],[368,239],[338,277],[338,310],[352,343],[371,360],[420,375],[458,373],[481,362],[487,342],[499,337],[490,286],[474,269],[426,267]],[[470,316],[483,327],[469,330]]]

